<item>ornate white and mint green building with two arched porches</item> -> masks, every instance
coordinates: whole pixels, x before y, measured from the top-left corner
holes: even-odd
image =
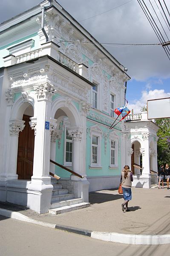
[[[89,192],[118,187],[125,164],[133,186],[156,183],[154,120],[143,112],[109,130],[126,70],[55,0],[0,24],[0,201],[87,207]]]

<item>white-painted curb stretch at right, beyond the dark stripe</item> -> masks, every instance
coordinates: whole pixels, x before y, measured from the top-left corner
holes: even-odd
[[[170,244],[170,235],[129,235],[93,231],[91,237],[121,244]]]

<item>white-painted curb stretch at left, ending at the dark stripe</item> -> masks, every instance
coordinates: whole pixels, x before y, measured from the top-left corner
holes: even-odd
[[[6,216],[6,217],[9,217],[9,218],[14,218],[14,219],[19,220],[19,221],[25,221],[25,222],[41,225],[41,226],[44,226],[44,227],[55,228],[55,224],[34,220],[32,218],[29,218],[29,217],[23,215],[20,212],[12,212],[12,211],[0,208],[0,215]]]

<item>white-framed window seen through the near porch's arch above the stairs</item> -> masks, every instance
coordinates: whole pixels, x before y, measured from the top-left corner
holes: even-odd
[[[64,165],[72,165],[72,137],[69,136],[67,129],[65,129],[65,157]]]

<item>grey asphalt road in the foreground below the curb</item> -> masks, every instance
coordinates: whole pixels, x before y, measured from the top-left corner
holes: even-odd
[[[95,240],[0,215],[0,256],[160,256],[170,245],[125,245]]]

